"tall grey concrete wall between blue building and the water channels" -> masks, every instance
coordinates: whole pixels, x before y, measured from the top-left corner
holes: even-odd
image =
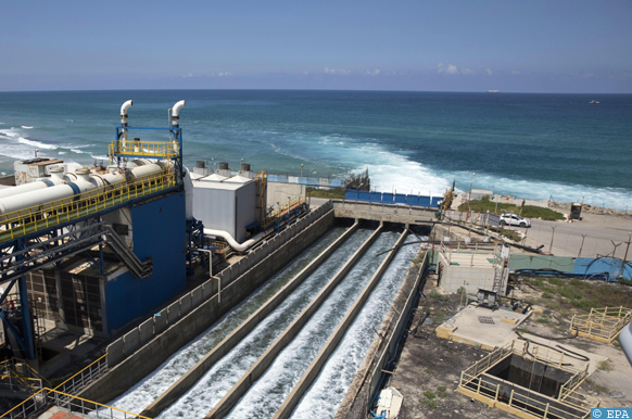
[[[336,217],[331,211],[331,204],[318,207],[291,229],[283,231],[265,246],[242,258],[239,264],[232,265],[191,291],[191,313],[188,315],[181,315],[180,299],[161,310],[159,313],[161,316],[150,319],[153,322],[151,338],[147,329],[137,328],[112,342],[108,346],[110,371],[85,389],[79,396],[105,403],[123,394],[243,301],[291,259],[323,237],[334,224]],[[219,282],[222,282],[222,302],[217,294]],[[200,295],[202,295],[201,303],[194,306],[194,301],[200,301]],[[138,340],[136,333],[138,333]],[[128,337],[127,340],[126,337]],[[149,340],[142,341],[143,337]]]

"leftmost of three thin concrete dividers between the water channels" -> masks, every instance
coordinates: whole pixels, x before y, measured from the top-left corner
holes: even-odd
[[[314,261],[303,268],[292,278],[281,290],[270,300],[252,314],[244,322],[226,337],[217,346],[198,361],[187,373],[161,394],[140,415],[156,417],[172,403],[182,396],[193,384],[208,371],[217,360],[230,352],[248,333],[250,333],[260,322],[265,319],[278,305],[299,287],[305,278],[312,275],[331,254],[342,245],[357,230],[358,223],[355,223],[349,230],[324,250]]]

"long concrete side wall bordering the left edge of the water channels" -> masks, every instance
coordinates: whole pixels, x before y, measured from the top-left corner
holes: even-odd
[[[222,302],[218,301],[218,295],[214,291],[210,297],[203,299],[202,304],[194,307],[191,313],[180,318],[175,325],[167,325],[167,309],[161,310],[161,320],[157,317],[154,319],[154,331],[156,333],[154,338],[136,352],[124,352],[123,358],[119,356],[119,352],[114,354],[113,357],[109,357],[113,365],[109,364],[108,372],[81,390],[77,396],[97,403],[106,403],[118,397],[139,380],[155,370],[179,348],[206,330],[230,308],[243,301],[250,293],[286,266],[289,261],[296,257],[323,237],[334,224],[336,217],[331,206],[329,206],[329,211],[325,212],[323,217],[315,219],[313,224],[289,240],[278,252],[270,252],[260,264],[228,287],[223,283]],[[203,295],[206,295],[207,289],[217,290],[217,282],[216,277],[204,282]],[[164,321],[162,325],[165,325],[166,329],[161,330],[157,321]],[[121,346],[124,346],[123,340],[121,340]],[[114,345],[112,350],[119,350],[121,346]]]

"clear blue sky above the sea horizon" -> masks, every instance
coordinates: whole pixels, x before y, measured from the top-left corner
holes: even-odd
[[[0,1],[0,91],[632,93],[632,1]]]

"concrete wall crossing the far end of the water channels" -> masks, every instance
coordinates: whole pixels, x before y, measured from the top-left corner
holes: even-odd
[[[437,208],[336,200],[333,201],[333,210],[338,218],[359,218],[403,224],[430,224],[438,221],[435,218]]]

